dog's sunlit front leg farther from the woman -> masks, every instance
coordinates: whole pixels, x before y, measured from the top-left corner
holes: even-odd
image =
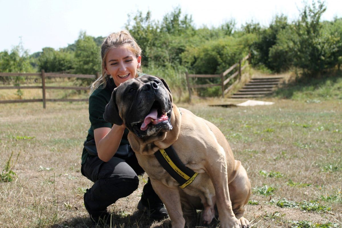
[[[227,171],[218,170],[216,164],[208,167],[208,174],[214,185],[216,206],[222,228],[240,228],[229,197]]]

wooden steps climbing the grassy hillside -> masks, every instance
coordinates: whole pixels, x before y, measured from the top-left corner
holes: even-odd
[[[234,93],[231,98],[253,98],[264,97],[272,94],[278,87],[282,77],[258,77],[252,78],[242,87],[237,93]]]

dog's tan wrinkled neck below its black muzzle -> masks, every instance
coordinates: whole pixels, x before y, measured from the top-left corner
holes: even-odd
[[[173,129],[168,132],[160,132],[156,136],[139,138],[132,132],[128,134],[128,140],[134,152],[141,155],[153,155],[159,149],[171,146],[178,139],[181,126],[181,113],[173,104],[171,113],[171,125]]]

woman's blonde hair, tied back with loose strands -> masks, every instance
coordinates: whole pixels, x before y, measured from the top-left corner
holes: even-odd
[[[101,84],[103,87],[106,86],[107,79],[110,75],[106,73],[106,56],[110,49],[118,48],[120,46],[124,46],[128,48],[131,52],[133,52],[136,57],[141,55],[141,48],[136,43],[135,39],[127,30],[122,30],[120,32],[113,32],[111,33],[101,45],[101,59],[102,59],[102,74],[101,76],[96,79],[90,87],[90,93],[92,93],[95,89],[97,89]],[[138,76],[138,72],[142,72],[141,67],[137,69],[137,73],[135,77]]]

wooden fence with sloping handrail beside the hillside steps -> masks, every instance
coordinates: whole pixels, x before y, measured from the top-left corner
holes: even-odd
[[[186,75],[186,82],[188,84],[189,100],[191,101],[191,90],[192,90],[192,88],[194,88],[194,89],[196,89],[196,88],[207,88],[207,87],[212,87],[212,86],[221,86],[221,88],[222,88],[222,97],[224,97],[224,95],[226,93],[228,93],[228,91],[231,90],[234,87],[234,85],[240,80],[240,78],[241,78],[241,71],[244,70],[247,67],[247,64],[245,64],[242,67],[241,67],[241,64],[244,61],[246,61],[246,60],[250,61],[250,58],[251,58],[251,54],[249,53],[244,58],[239,60],[238,63],[236,63],[233,66],[229,67],[227,70],[225,70],[223,73],[221,73],[219,75],[189,75],[188,72],[186,72],[185,75]],[[231,76],[229,76],[227,79],[225,79],[225,76],[229,72],[234,70],[235,68],[238,68],[237,71],[235,73],[233,73]],[[229,81],[231,81],[232,79],[234,79],[236,76],[238,76],[237,80],[233,84],[231,84],[227,89],[225,89],[227,83]],[[221,83],[218,83],[218,84],[190,85],[189,78],[221,78]]]

